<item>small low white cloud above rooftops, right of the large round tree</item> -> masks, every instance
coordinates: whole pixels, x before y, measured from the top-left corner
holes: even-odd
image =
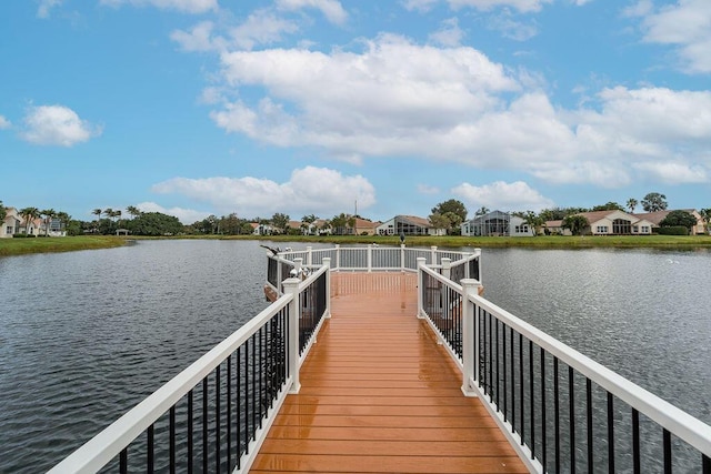
[[[507,183],[495,181],[491,184],[474,186],[462,183],[451,190],[464,204],[473,208],[489,208],[501,211],[540,211],[553,206],[553,201],[523,181]]]

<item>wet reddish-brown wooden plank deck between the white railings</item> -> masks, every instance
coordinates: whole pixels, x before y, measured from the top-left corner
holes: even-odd
[[[331,314],[250,472],[525,473],[417,314],[412,273],[333,273]]]

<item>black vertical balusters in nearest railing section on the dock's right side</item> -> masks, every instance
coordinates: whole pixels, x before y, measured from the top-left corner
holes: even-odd
[[[543,472],[701,472],[703,453],[477,307],[474,380]],[[515,367],[515,369],[514,369]]]

